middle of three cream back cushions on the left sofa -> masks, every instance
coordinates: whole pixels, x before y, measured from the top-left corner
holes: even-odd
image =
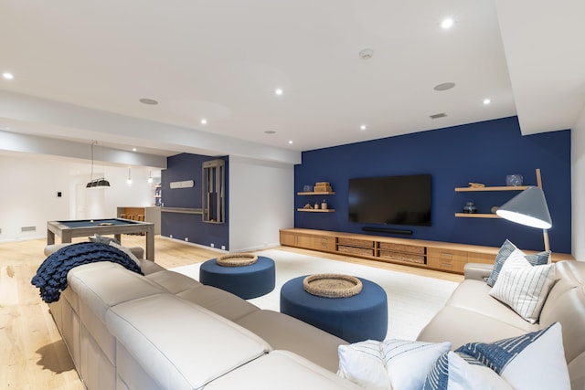
[[[270,350],[232,321],[168,293],[117,305],[106,324],[160,388],[200,388]]]

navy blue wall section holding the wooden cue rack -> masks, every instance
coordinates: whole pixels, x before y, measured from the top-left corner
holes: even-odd
[[[165,207],[201,208],[203,163],[217,160],[199,154],[181,153],[167,159],[167,167],[161,173],[162,202]],[[185,240],[215,248],[225,246],[229,250],[229,158],[221,158],[226,162],[226,222],[223,224],[210,224],[202,221],[200,214],[161,213],[161,235],[165,237]],[[192,188],[171,189],[171,182],[194,180]]]

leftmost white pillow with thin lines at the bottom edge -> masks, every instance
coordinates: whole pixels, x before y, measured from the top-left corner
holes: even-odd
[[[337,374],[367,389],[420,390],[451,343],[389,339],[340,345]]]

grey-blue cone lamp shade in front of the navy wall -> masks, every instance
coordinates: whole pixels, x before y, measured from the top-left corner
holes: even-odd
[[[538,187],[528,187],[498,208],[495,214],[527,227],[541,229],[552,227],[547,199],[542,189]]]

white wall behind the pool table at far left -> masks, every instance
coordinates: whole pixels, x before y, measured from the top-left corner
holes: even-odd
[[[132,168],[131,174],[129,186],[127,167],[98,164],[93,177],[105,175],[111,187],[86,190],[90,163],[25,153],[0,155],[0,242],[47,237],[47,221],[112,217],[118,206],[152,206],[148,168]],[[160,171],[153,174],[160,177]],[[85,196],[81,201],[77,187]],[[23,232],[22,227],[36,230]]]

